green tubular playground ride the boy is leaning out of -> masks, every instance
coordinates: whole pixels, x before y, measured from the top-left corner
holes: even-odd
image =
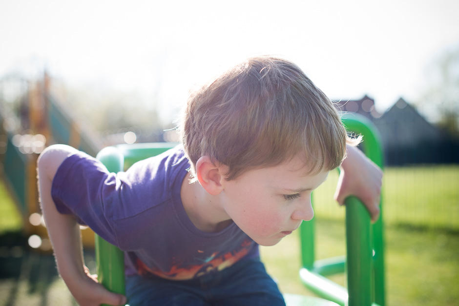
[[[372,123],[360,116],[346,117],[343,122],[349,131],[363,135],[364,151],[370,159],[382,167],[380,144]],[[97,158],[110,172],[119,172],[136,161],[160,154],[174,145],[174,143],[118,145],[104,148]],[[303,263],[300,279],[311,290],[327,300],[287,294],[285,295],[287,305],[336,305],[334,302],[348,306],[385,304],[382,212],[379,221],[371,225],[370,216],[363,204],[355,197],[346,200],[347,256],[339,259],[315,261],[313,221],[303,222],[300,234]],[[110,291],[125,294],[123,252],[96,235],[96,260],[99,282]],[[347,289],[324,277],[345,270],[348,280]]]

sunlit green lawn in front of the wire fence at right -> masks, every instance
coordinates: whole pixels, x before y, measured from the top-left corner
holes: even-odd
[[[343,255],[344,224],[317,220],[317,258]],[[431,229],[392,225],[386,227],[387,305],[459,305],[459,235]],[[300,284],[299,237],[297,233],[279,244],[262,247],[268,272],[283,292],[313,295]],[[331,279],[344,286],[343,274]]]

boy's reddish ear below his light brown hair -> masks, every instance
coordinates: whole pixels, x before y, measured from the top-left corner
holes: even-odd
[[[209,156],[203,156],[196,162],[196,177],[199,184],[211,195],[216,196],[223,190],[222,170],[222,166],[212,163]]]

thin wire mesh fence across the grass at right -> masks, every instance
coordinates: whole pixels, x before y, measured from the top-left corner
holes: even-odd
[[[314,192],[317,218],[344,219],[344,209],[333,200],[337,178],[337,173],[331,173]],[[459,165],[386,167],[382,198],[386,224],[458,231]]]

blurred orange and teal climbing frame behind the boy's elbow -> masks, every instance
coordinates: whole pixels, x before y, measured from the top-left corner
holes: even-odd
[[[33,247],[51,251],[38,201],[38,156],[45,145],[52,143],[69,144],[95,156],[102,144],[81,129],[71,112],[50,94],[46,74],[35,83],[7,80],[12,84],[6,86],[5,80],[1,81],[2,89],[19,88],[15,93],[15,107],[7,107],[11,102],[3,101],[0,95],[1,177],[20,212],[24,234],[39,240]],[[12,108],[17,112],[14,113]],[[85,246],[94,246],[92,230],[83,230],[82,236]]]

